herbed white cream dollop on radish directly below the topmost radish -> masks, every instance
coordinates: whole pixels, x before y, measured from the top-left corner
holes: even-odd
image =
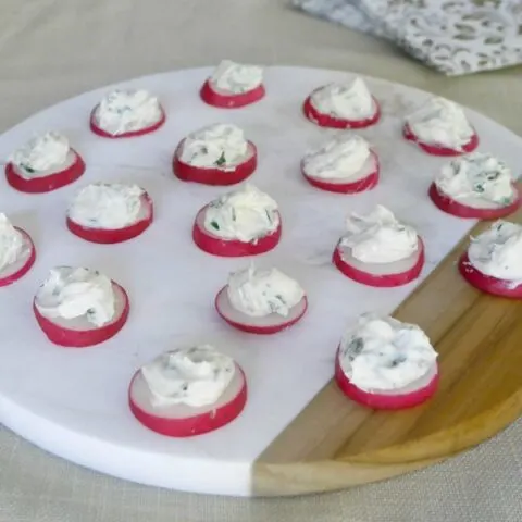
[[[179,160],[200,169],[234,170],[249,157],[244,132],[232,124],[214,124],[189,134]]]

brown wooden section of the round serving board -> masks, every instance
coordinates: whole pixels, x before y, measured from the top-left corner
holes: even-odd
[[[522,210],[510,221],[522,223]],[[468,244],[467,237],[394,313],[424,328],[439,352],[436,396],[411,410],[377,412],[328,383],[254,463],[254,495],[324,492],[407,473],[492,437],[522,414],[522,302],[463,281],[457,262]]]

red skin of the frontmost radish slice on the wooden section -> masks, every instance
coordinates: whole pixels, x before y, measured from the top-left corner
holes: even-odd
[[[420,406],[435,395],[438,388],[439,373],[437,368],[435,375],[424,387],[406,394],[398,393],[394,395],[364,391],[350,383],[350,380],[345,375],[337,352],[335,358],[335,382],[349,399],[362,406],[374,410],[403,410]]]

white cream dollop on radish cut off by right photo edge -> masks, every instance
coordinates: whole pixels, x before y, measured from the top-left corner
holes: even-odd
[[[471,238],[468,257],[483,274],[519,286],[522,284],[522,226],[502,220],[495,222]]]

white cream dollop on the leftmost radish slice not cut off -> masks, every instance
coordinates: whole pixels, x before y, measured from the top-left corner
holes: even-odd
[[[30,179],[47,176],[50,174],[49,171],[59,172],[65,167],[70,150],[65,136],[48,132],[14,151],[10,161],[18,167],[24,178]]]

